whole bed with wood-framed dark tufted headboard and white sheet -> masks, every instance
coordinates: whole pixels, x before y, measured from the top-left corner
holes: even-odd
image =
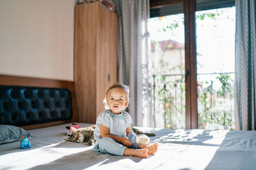
[[[76,97],[72,82],[0,76],[0,85],[7,86],[12,90],[31,88],[31,94],[34,94],[34,91],[36,94],[40,94],[38,90],[45,93],[47,90],[57,90],[62,97],[69,94],[68,99],[72,103],[72,108],[70,108],[70,104],[65,102],[65,107],[67,105],[70,113],[63,113],[65,116],[61,117],[61,113],[65,112],[63,110],[66,108],[61,106],[61,102],[58,105],[58,102],[52,101],[52,107],[59,107],[60,111],[55,113],[49,111],[47,117],[51,118],[43,119],[41,116],[40,120],[36,120],[31,115],[34,112],[38,115],[40,111],[36,112],[35,108],[40,110],[40,102],[36,103],[34,99],[35,105],[31,106],[31,111],[28,111],[29,114],[23,119],[16,120],[15,116],[11,116],[10,120],[8,118],[3,120],[3,114],[8,111],[3,111],[6,106],[4,106],[3,92],[0,93],[2,96],[0,100],[1,124],[5,122],[6,125],[6,122],[9,121],[8,125],[22,128],[31,136],[29,139],[31,148],[20,149],[20,140],[0,145],[0,169],[256,169],[255,131],[137,127],[143,132],[156,134],[156,136],[150,137],[150,141],[159,144],[157,153],[150,155],[147,159],[114,156],[95,152],[93,146],[88,146],[86,143],[73,143],[64,140],[67,137],[65,127],[71,125],[72,122],[77,122]],[[64,90],[66,95],[63,95],[61,90]],[[11,95],[11,91],[8,92]],[[12,97],[15,98],[15,94],[12,94]],[[57,97],[56,100],[60,101],[60,98]],[[29,104],[31,105],[31,103]],[[45,104],[45,106],[47,105]],[[12,113],[10,111],[10,114]],[[15,113],[18,114],[18,111]],[[92,125],[81,122],[77,124],[81,127]]]

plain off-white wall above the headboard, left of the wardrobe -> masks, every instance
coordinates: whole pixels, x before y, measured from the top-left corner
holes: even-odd
[[[0,74],[74,80],[77,0],[0,0]]]

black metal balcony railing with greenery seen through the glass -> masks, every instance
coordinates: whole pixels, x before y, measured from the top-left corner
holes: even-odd
[[[153,75],[154,126],[186,127],[184,74]],[[198,128],[234,129],[234,73],[198,74]]]

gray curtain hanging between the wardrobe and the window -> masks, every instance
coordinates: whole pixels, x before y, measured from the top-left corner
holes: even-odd
[[[148,0],[113,0],[118,13],[118,81],[129,85],[133,125],[152,126]]]

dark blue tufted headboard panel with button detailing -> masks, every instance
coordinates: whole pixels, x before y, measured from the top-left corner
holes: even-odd
[[[0,85],[0,124],[41,124],[72,116],[68,89]]]

